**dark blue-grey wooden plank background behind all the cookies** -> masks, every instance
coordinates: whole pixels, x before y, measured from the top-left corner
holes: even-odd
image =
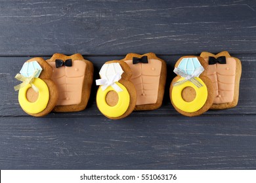
[[[168,88],[184,55],[227,50],[242,61],[236,108],[181,116]],[[163,106],[108,120],[86,110],[25,114],[14,79],[55,52],[95,65],[129,52],[167,62]],[[0,169],[256,169],[256,1],[0,1]]]

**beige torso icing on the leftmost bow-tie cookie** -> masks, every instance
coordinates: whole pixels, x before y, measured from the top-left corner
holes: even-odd
[[[52,80],[58,87],[57,105],[78,105],[81,103],[83,79],[86,63],[81,60],[72,61],[72,67],[58,67],[55,62],[49,62],[53,67]]]

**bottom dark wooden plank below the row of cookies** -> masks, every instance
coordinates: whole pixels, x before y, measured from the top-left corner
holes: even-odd
[[[0,118],[0,169],[256,169],[255,122],[254,115]]]

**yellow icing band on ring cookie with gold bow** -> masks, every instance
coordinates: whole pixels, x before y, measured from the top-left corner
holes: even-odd
[[[38,88],[38,98],[35,102],[28,101],[26,97],[26,93],[29,88],[31,88],[30,84],[27,84],[25,87],[20,88],[18,92],[18,102],[20,106],[28,113],[37,114],[42,112],[47,107],[49,101],[49,88],[47,84],[41,80],[40,78],[34,78],[33,84]]]

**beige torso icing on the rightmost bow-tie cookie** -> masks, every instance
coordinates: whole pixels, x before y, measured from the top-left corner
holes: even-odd
[[[209,61],[209,58],[204,58]],[[207,76],[215,88],[214,104],[230,103],[234,99],[236,60],[226,58],[226,64],[216,63],[208,66]]]

